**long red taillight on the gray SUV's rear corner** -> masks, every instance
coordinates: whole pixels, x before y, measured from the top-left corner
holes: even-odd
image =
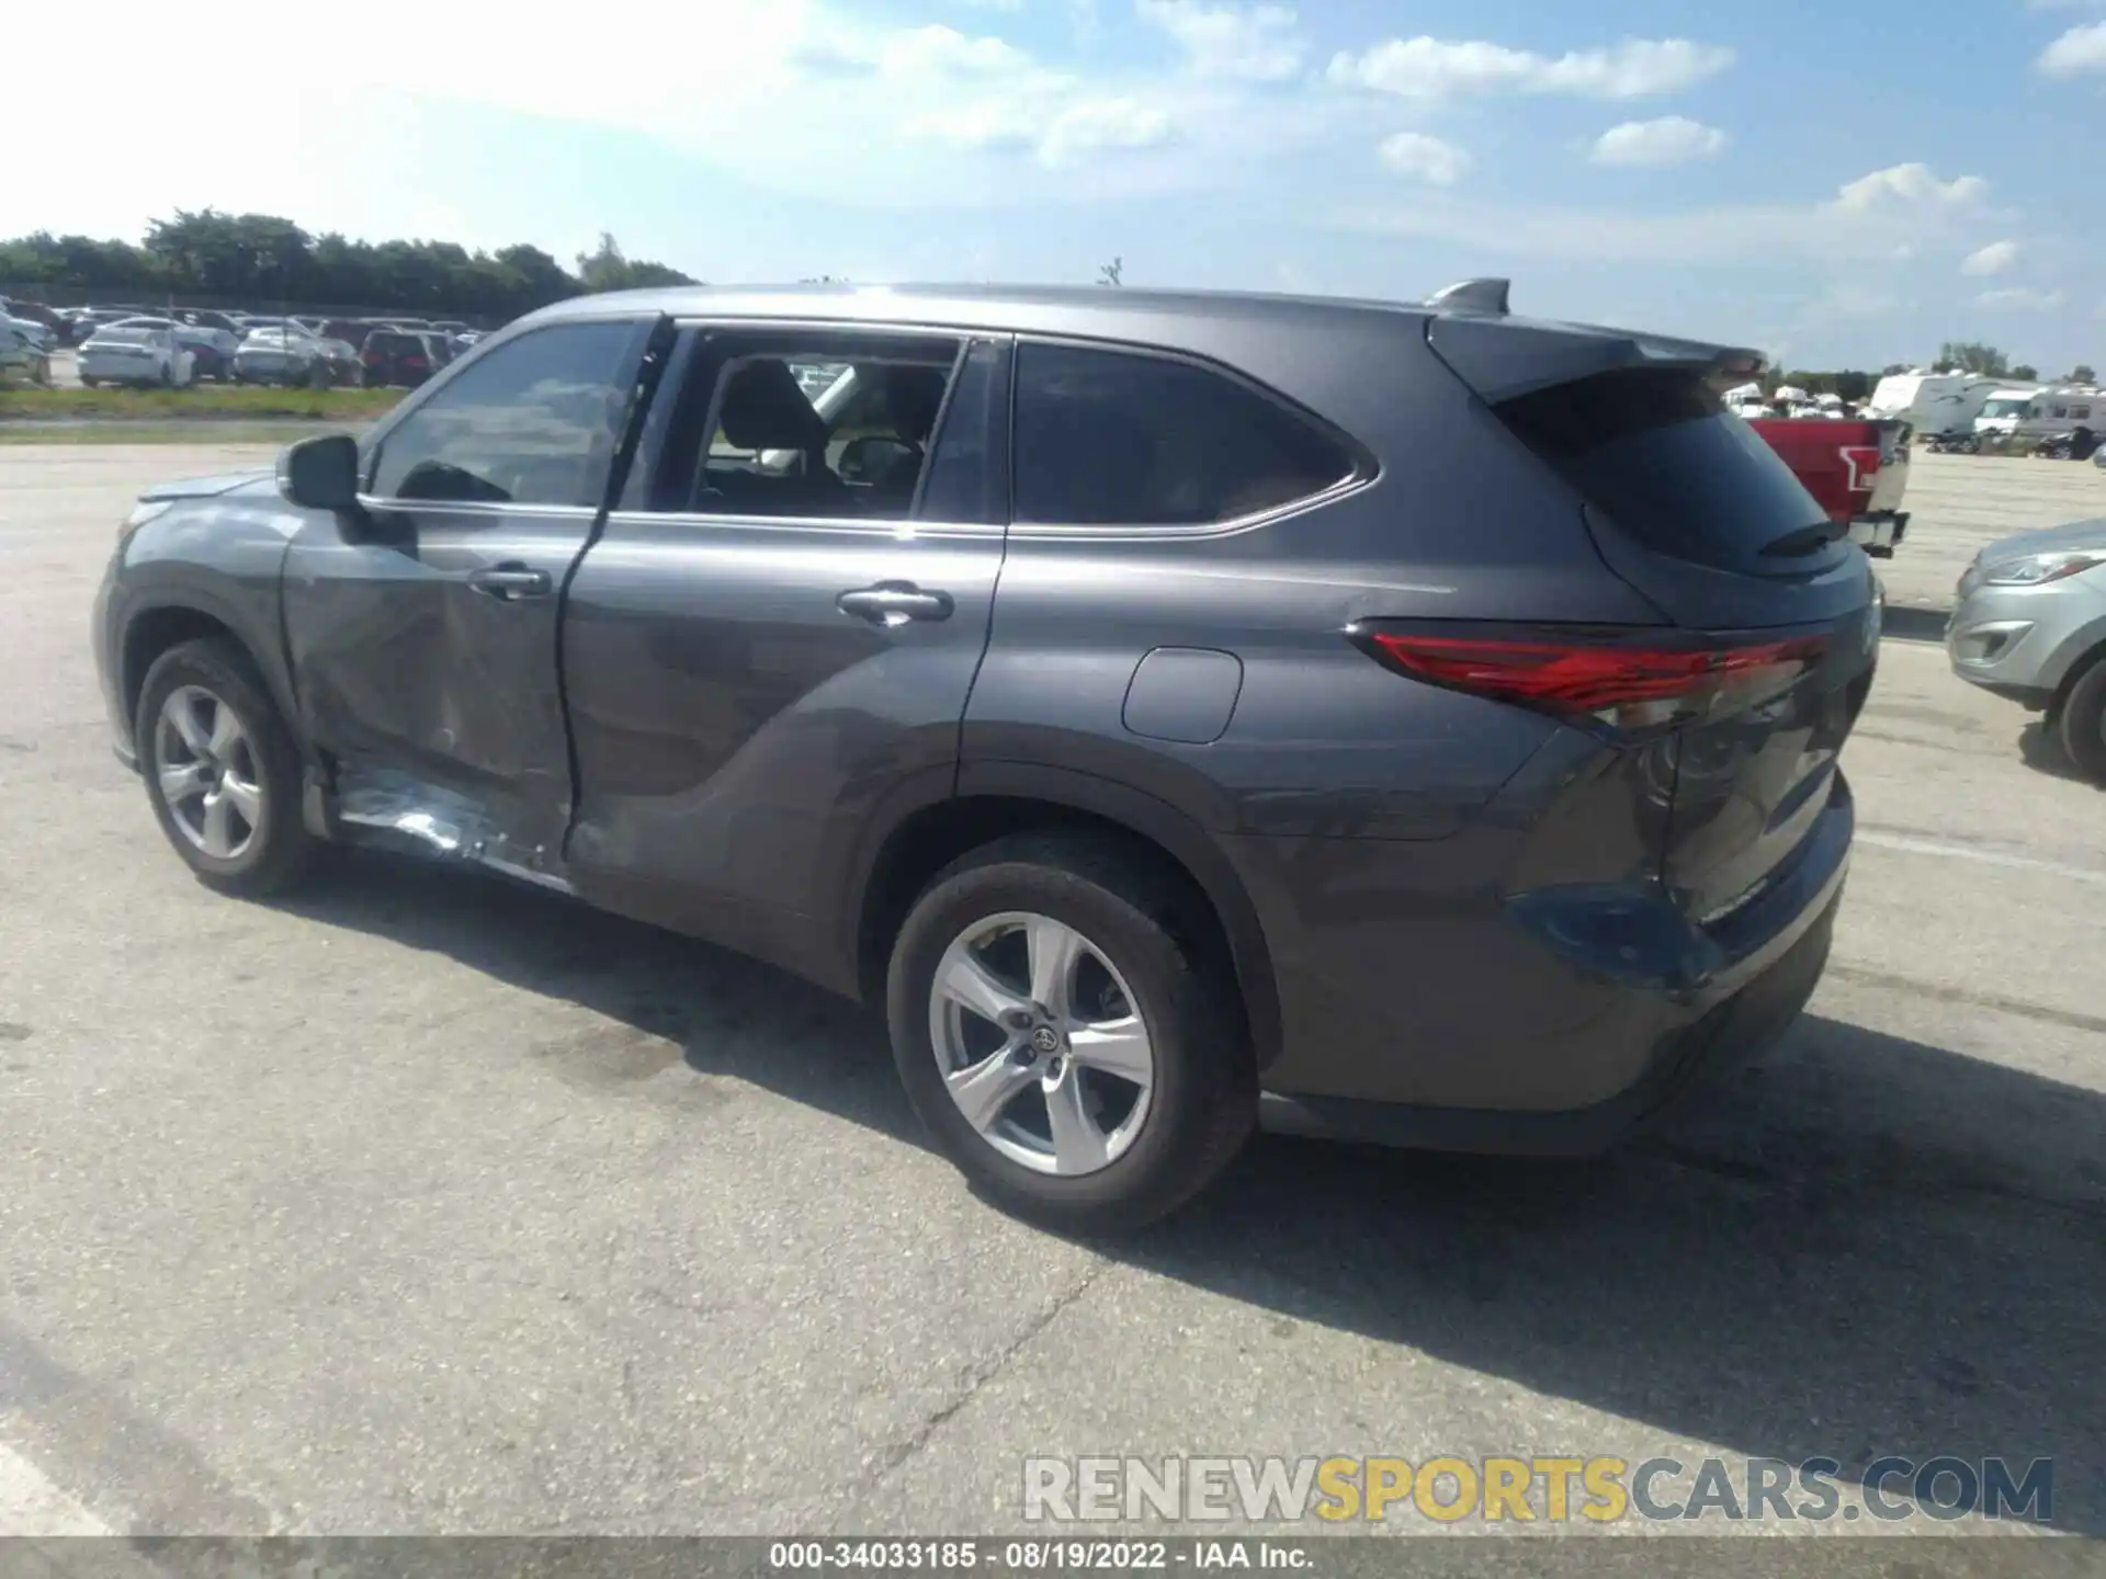
[[[1716,718],[1777,695],[1822,659],[1820,636],[1740,646],[1662,646],[1624,636],[1447,636],[1363,632],[1392,667],[1558,718],[1660,728]]]

